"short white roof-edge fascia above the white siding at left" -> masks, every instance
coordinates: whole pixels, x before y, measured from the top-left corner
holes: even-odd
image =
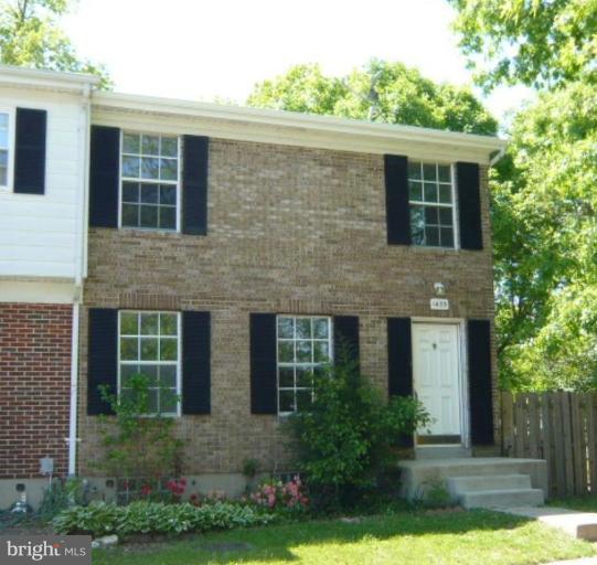
[[[99,77],[82,73],[60,73],[0,65],[0,86],[61,93],[82,93],[99,84]]]

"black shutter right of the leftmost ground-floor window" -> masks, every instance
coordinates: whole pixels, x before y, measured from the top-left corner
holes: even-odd
[[[182,312],[182,413],[211,413],[210,312]]]

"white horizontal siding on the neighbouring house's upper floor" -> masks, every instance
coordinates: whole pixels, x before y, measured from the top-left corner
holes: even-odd
[[[84,202],[83,97],[0,88],[0,107],[47,111],[45,194],[0,191],[0,277],[74,279]]]

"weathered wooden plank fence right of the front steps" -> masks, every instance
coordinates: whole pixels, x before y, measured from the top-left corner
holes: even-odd
[[[501,393],[502,450],[547,460],[548,497],[597,492],[597,396]]]

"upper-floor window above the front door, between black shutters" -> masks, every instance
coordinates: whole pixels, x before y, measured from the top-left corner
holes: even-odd
[[[451,167],[409,161],[408,192],[413,244],[454,247],[456,238]]]

